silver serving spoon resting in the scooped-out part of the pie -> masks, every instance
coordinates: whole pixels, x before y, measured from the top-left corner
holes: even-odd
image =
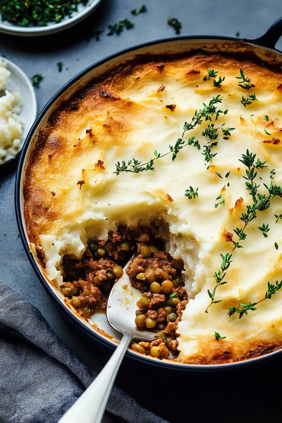
[[[58,423],[100,423],[130,341],[133,338],[146,341],[154,339],[153,332],[140,330],[134,323],[136,302],[140,300],[141,293],[131,286],[129,277],[126,275],[128,265],[129,263],[123,268],[123,276],[112,287],[107,305],[107,319],[114,329],[123,333],[123,337],[94,382]]]

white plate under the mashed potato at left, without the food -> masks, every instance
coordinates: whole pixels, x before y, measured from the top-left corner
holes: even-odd
[[[11,75],[7,80],[7,88],[9,91],[19,91],[22,96],[21,112],[19,116],[22,118],[22,144],[27,137],[27,134],[37,117],[37,102],[34,88],[24,71],[16,66],[8,59],[0,58],[2,62],[7,65],[7,69]],[[15,157],[5,157],[4,163],[0,167],[13,160]]]

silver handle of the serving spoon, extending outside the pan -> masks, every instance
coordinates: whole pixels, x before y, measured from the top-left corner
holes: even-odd
[[[58,423],[100,423],[115,382],[115,376],[127,351],[131,337],[123,335],[112,357],[76,403]]]

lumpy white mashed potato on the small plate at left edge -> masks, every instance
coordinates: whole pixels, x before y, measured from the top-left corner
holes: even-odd
[[[22,121],[19,117],[21,95],[6,89],[7,79],[11,75],[6,65],[0,60],[0,164],[13,158],[22,146]]]

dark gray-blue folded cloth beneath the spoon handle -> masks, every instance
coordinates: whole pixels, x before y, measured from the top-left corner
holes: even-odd
[[[95,376],[40,311],[0,282],[0,422],[56,423]],[[103,423],[167,423],[114,386]]]

